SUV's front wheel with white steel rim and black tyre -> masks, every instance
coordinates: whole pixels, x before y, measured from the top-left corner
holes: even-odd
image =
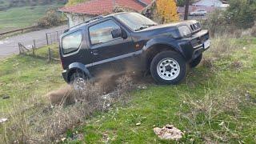
[[[162,51],[150,65],[152,77],[159,84],[178,84],[186,78],[187,64],[181,54],[174,51]]]

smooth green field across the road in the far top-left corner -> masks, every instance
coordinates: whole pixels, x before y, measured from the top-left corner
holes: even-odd
[[[59,6],[62,5],[23,6],[0,11],[0,32],[34,26],[37,24],[38,19],[46,14],[47,10],[56,9]]]

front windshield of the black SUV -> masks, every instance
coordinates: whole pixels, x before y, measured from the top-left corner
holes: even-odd
[[[150,18],[146,18],[138,13],[122,13],[117,14],[115,17],[134,31],[143,30],[147,27],[157,25],[157,23],[150,20]]]

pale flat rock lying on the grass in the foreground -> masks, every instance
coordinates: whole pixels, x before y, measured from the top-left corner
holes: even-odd
[[[155,127],[154,133],[158,135],[158,138],[166,139],[166,140],[175,140],[178,141],[180,138],[182,138],[181,130],[178,130],[173,125],[166,125],[162,128]]]

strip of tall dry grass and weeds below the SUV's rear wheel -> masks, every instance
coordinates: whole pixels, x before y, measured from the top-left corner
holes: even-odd
[[[108,94],[106,94],[106,86],[110,83],[106,82],[102,80],[87,83],[86,90],[83,91],[63,86],[46,95],[50,98],[50,102],[38,102],[33,98],[17,106],[15,112],[10,114],[10,122],[3,126],[4,134],[0,135],[1,141],[4,143],[57,142],[66,130],[84,123],[90,114],[108,110],[114,102],[126,104],[129,101],[130,95],[127,92],[134,87],[129,76],[122,76],[115,82],[108,79],[108,82],[114,85],[112,90],[107,89],[111,91]],[[31,106],[31,102],[34,106]],[[71,103],[73,104],[70,105]]]

